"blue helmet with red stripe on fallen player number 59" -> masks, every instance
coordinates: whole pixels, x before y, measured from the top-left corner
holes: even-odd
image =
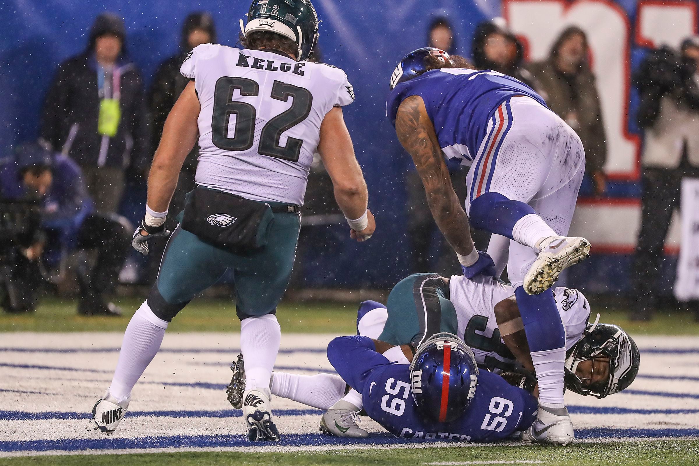
[[[450,422],[466,411],[478,385],[478,366],[466,343],[438,333],[421,344],[410,364],[410,391],[419,411]]]

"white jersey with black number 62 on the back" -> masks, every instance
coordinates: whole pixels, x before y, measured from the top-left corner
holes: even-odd
[[[196,183],[254,201],[303,204],[320,124],[354,101],[334,66],[203,44],[180,73],[201,103]]]

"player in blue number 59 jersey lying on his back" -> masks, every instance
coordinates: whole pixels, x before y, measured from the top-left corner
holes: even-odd
[[[450,333],[438,333],[415,352],[361,335],[337,337],[328,345],[328,359],[339,376],[304,376],[274,372],[271,391],[319,409],[327,409],[345,393],[345,381],[361,393],[366,413],[399,438],[496,442],[534,422],[537,400],[498,374],[478,370],[473,352]],[[410,363],[409,358],[412,359]],[[233,407],[240,407],[245,385],[238,356],[229,388]],[[237,402],[237,403],[236,403]],[[357,413],[334,428],[367,437],[356,426]],[[321,424],[321,430],[329,432]],[[360,434],[360,435],[358,435]]]

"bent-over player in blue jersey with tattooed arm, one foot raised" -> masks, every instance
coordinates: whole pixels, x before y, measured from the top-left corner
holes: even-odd
[[[387,116],[415,162],[435,222],[459,255],[464,275],[498,275],[490,257],[473,247],[469,221],[509,238],[507,270],[540,393],[538,421],[525,436],[570,443],[573,428],[563,405],[565,333],[548,289],[563,269],[589,254],[586,239],[565,236],[584,174],[582,143],[530,87],[496,71],[470,69],[465,59],[443,50],[406,55],[390,87]],[[471,166],[466,212],[444,157]]]

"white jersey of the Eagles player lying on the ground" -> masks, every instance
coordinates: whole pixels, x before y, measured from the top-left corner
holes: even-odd
[[[490,370],[510,370],[514,357],[500,337],[495,318],[495,305],[514,295],[509,284],[492,277],[477,275],[473,279],[454,275],[449,279],[449,300],[454,304],[459,323],[459,336],[473,349],[476,361]],[[558,286],[554,289],[556,307],[565,329],[565,349],[582,338],[590,317],[590,305],[576,289]]]

